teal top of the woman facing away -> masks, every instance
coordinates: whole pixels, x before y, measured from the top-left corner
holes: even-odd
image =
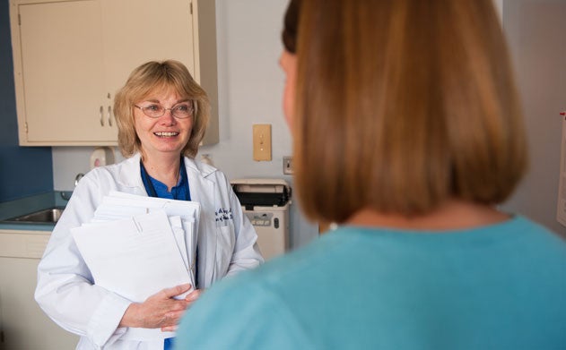
[[[564,349],[566,242],[527,218],[469,230],[340,227],[227,277],[177,349]]]

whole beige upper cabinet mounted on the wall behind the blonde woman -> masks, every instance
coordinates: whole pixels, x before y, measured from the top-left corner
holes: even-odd
[[[139,64],[169,58],[186,64],[211,95],[204,143],[218,141],[213,0],[10,0],[10,6],[21,145],[118,144],[114,94]]]

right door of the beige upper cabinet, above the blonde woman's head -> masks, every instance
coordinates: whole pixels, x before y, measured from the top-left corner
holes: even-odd
[[[190,1],[103,0],[102,32],[107,92],[111,95],[135,67],[148,61],[175,59],[195,77]]]

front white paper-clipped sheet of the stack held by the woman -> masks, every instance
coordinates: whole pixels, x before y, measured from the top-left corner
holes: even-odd
[[[135,303],[166,287],[194,286],[164,210],[71,232],[94,283]]]

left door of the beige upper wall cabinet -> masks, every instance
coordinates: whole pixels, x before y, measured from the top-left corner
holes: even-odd
[[[18,19],[13,51],[20,144],[116,141],[103,107],[100,3],[22,4]]]

